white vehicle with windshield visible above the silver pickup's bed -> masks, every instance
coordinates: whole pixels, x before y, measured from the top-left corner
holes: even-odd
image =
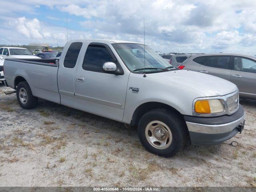
[[[39,57],[34,56],[29,50],[21,47],[0,47],[0,56],[6,58],[26,58],[26,59],[38,59]]]

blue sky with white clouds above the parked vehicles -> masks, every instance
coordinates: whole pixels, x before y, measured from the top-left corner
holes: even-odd
[[[0,44],[102,38],[161,52],[256,54],[254,0],[0,0]]]

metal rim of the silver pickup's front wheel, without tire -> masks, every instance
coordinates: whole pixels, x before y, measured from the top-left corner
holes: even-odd
[[[172,132],[170,128],[161,121],[150,122],[145,129],[148,142],[154,148],[166,149],[172,143]]]

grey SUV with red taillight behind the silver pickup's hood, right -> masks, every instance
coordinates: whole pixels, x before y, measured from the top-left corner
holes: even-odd
[[[256,99],[256,58],[240,54],[194,55],[180,69],[214,75],[236,84],[243,98]]]

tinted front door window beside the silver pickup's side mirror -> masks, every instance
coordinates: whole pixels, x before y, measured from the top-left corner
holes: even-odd
[[[102,66],[106,62],[116,62],[108,49],[102,45],[89,45],[82,67],[84,70],[103,72]]]

